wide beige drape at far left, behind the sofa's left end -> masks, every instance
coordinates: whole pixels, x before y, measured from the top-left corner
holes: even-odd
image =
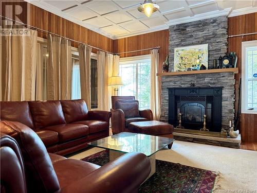
[[[19,31],[19,35],[1,34],[2,100],[35,100],[37,32],[12,25],[10,21],[3,21],[2,24],[3,28]]]

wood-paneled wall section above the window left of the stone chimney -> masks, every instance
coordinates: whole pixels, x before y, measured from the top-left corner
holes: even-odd
[[[162,68],[162,62],[169,54],[169,30],[161,30],[151,33],[140,34],[138,36],[114,40],[114,52],[133,51],[160,46],[159,49],[159,71]],[[148,55],[151,50],[131,52],[121,54],[120,57],[132,57]]]

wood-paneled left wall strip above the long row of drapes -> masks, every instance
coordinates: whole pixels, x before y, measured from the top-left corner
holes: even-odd
[[[22,14],[20,15],[24,23],[27,23],[36,28],[56,33],[69,39],[73,39],[94,47],[104,49],[106,51],[113,52],[113,40],[102,36],[95,31],[70,22],[56,14],[50,13],[32,4],[26,2],[21,3],[20,0],[16,2],[15,0],[12,0],[9,1],[7,4],[21,5],[24,10],[28,9],[28,14],[23,15],[23,13],[25,12],[22,12]],[[26,7],[25,4],[27,4],[28,6]],[[11,17],[15,20],[15,15],[9,14],[13,13],[14,11],[6,10],[6,8],[3,9],[5,9],[4,11],[2,10],[2,14],[4,16]],[[47,36],[48,33],[38,30],[38,37],[47,39]],[[78,43],[71,42],[71,46],[78,47]],[[92,50],[93,52],[96,52],[96,49]]]

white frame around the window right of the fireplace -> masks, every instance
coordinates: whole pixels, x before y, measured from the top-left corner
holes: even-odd
[[[254,110],[247,110],[247,103],[248,103],[248,78],[247,78],[247,63],[246,63],[246,50],[247,48],[256,47],[257,46],[257,40],[254,41],[247,41],[242,42],[242,97],[241,97],[241,104],[242,109],[241,113],[245,114],[257,114],[257,108]],[[257,79],[256,79],[257,81]]]

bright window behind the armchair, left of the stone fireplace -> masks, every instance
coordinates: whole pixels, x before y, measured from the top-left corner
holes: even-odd
[[[151,58],[149,55],[120,59],[120,76],[124,83],[121,96],[135,96],[139,109],[150,109]]]

